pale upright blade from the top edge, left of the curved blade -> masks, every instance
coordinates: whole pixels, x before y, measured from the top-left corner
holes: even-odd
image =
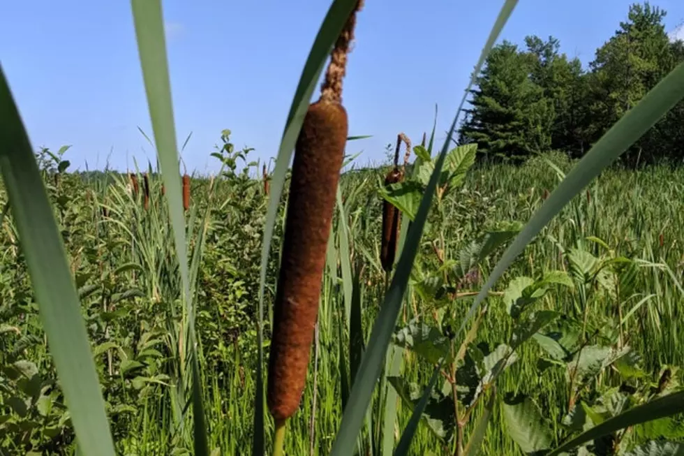
[[[179,263],[183,300],[186,304],[187,332],[186,347],[193,378],[193,420],[195,455],[208,455],[207,429],[202,394],[199,390],[200,379],[195,344],[195,319],[190,279],[188,255],[185,239],[185,219],[182,209],[181,182],[179,176],[179,156],[176,142],[176,129],[171,100],[171,83],[168,71],[168,58],[164,34],[164,22],[160,0],[131,0],[135,36],[140,54],[140,66],[144,80],[147,106],[154,133],[159,166],[166,186],[166,197],[172,222],[174,246]]]

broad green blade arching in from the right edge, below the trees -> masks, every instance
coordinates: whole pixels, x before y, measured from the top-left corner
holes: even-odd
[[[627,111],[609,131],[586,153],[570,172],[567,173],[563,182],[544,201],[542,207],[526,223],[520,234],[506,249],[503,256],[494,267],[489,279],[479,291],[473,305],[468,310],[466,318],[463,318],[461,328],[456,334],[458,337],[466,328],[470,318],[475,315],[479,304],[487,297],[489,290],[505,270],[513,263],[513,260],[525,249],[533,237],[539,233],[547,223],[560,212],[567,203],[574,198],[589,182],[600,174],[604,168],[616,161],[641,135],[646,133],[663,115],[684,98],[684,63],[679,64],[665,78],[650,89],[644,98],[634,108]]]

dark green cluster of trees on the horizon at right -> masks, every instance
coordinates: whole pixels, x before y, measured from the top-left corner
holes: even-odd
[[[477,142],[482,159],[521,161],[560,150],[579,158],[677,64],[684,42],[668,36],[666,11],[630,6],[625,22],[599,47],[588,68],[560,52],[558,39],[527,36],[494,47],[470,91],[459,142]],[[684,161],[684,102],[630,150],[630,166]]]

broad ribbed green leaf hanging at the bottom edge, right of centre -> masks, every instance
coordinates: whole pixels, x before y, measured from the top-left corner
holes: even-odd
[[[527,396],[507,397],[503,403],[506,431],[523,453],[551,448],[553,437],[549,423],[542,418],[539,406]]]

